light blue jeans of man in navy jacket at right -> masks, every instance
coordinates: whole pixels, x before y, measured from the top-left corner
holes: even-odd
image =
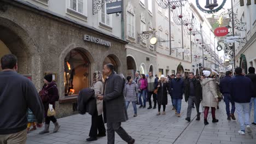
[[[240,123],[241,130],[245,130],[245,125],[250,123],[249,105],[250,103],[235,103],[238,122]],[[245,118],[243,118],[243,115]]]

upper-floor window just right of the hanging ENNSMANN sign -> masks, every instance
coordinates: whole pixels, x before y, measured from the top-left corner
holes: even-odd
[[[127,11],[127,35],[135,38],[135,16]]]

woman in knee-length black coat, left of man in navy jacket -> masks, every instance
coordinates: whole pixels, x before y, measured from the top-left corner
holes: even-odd
[[[162,115],[165,115],[165,107],[167,105],[167,88],[168,88],[168,81],[165,80],[165,76],[161,75],[160,80],[158,80],[158,113],[156,114],[159,116],[161,114],[161,105],[162,105]]]

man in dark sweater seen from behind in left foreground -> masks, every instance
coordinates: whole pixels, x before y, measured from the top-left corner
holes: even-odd
[[[30,79],[17,73],[17,57],[9,54],[1,58],[0,72],[0,143],[26,143],[27,109],[43,126],[44,107],[36,87]]]

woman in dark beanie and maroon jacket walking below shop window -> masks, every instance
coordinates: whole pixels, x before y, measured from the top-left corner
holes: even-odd
[[[55,109],[55,101],[59,100],[59,92],[58,92],[56,83],[53,82],[52,74],[44,76],[44,86],[42,90],[39,92],[39,95],[44,105],[44,117],[45,117],[44,130],[40,131],[39,134],[49,133],[50,121],[54,123],[55,127],[53,132],[56,133],[60,128],[60,125],[57,122],[57,119],[55,118],[55,116],[50,116],[50,117],[47,116],[49,104],[53,105],[53,108]]]

